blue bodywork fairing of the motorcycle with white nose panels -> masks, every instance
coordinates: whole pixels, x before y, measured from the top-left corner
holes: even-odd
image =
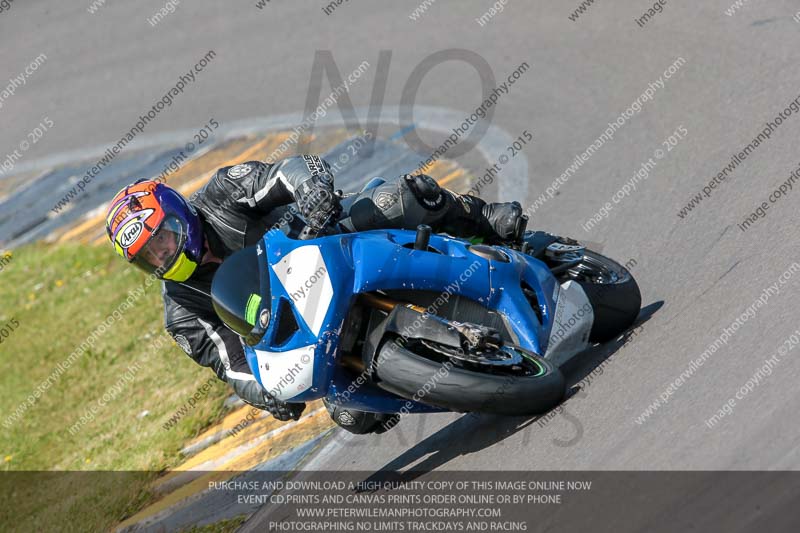
[[[543,354],[553,326],[558,284],[541,261],[501,248],[509,262],[469,251],[464,240],[432,235],[429,250],[414,250],[410,230],[372,230],[313,240],[280,232],[265,236],[272,294],[271,320],[261,341],[245,346],[256,380],[283,401],[327,397],[345,407],[374,412],[439,409],[390,394],[368,382],[350,386],[354,376],[337,364],[337,347],[354,298],[376,290],[438,291],[457,294],[496,310],[518,344]],[[438,253],[437,253],[438,252]],[[536,293],[541,322],[522,292],[524,280]],[[266,306],[265,304],[262,304]],[[435,305],[435,304],[434,304]],[[296,328],[278,339],[291,313]],[[280,341],[280,342],[278,342]],[[364,380],[365,381],[365,380]]]

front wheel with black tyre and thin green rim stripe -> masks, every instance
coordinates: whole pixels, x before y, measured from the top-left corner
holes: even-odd
[[[566,391],[557,367],[512,345],[472,354],[398,337],[384,342],[376,363],[384,390],[450,411],[540,414]]]

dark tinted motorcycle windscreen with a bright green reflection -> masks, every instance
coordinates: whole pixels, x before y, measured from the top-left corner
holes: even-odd
[[[211,301],[225,325],[248,345],[261,340],[269,325],[270,293],[269,273],[257,246],[242,248],[222,262],[211,282]]]

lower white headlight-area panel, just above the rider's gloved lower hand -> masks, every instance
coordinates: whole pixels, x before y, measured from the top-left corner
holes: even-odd
[[[291,400],[314,383],[313,344],[286,352],[255,352],[261,384],[279,400]]]

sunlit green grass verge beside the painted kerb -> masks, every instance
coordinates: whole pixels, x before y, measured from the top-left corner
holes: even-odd
[[[57,516],[62,530],[113,527],[151,499],[149,481],[180,462],[186,441],[219,419],[229,389],[215,380],[175,427],[162,427],[213,374],[166,336],[161,284],[152,283],[33,406],[10,427],[3,425],[146,280],[108,247],[77,244],[22,248],[0,271],[0,328],[12,320],[19,324],[0,344],[0,467],[120,471],[38,475],[35,481],[30,474],[0,476],[6,485],[0,523],[42,529]],[[160,349],[148,349],[159,341]],[[127,383],[120,381],[126,372]],[[71,434],[91,406],[93,419]]]

